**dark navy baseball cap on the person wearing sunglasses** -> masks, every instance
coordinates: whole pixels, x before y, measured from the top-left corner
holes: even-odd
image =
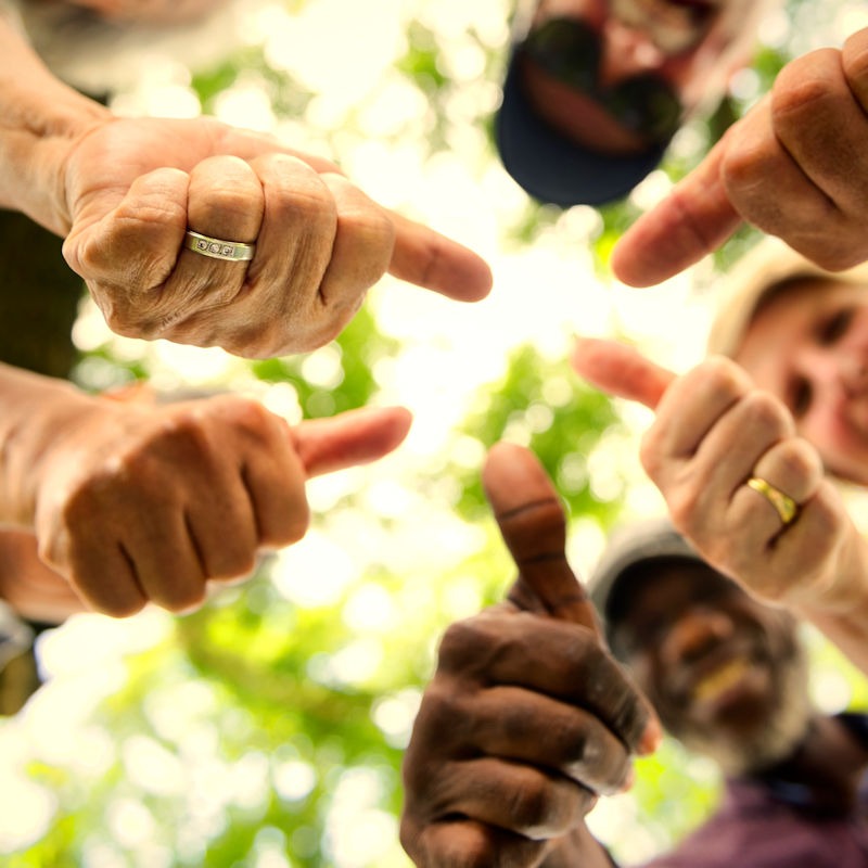
[[[560,207],[604,205],[626,196],[658,167],[668,142],[639,154],[604,154],[545,122],[525,93],[519,54],[513,48],[495,117],[495,142],[503,167],[529,195]]]

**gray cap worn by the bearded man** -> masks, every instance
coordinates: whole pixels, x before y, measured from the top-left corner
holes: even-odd
[[[609,545],[588,580],[590,599],[602,618],[610,641],[610,603],[621,578],[639,563],[665,558],[705,563],[667,518],[633,522],[616,528],[610,536]]]

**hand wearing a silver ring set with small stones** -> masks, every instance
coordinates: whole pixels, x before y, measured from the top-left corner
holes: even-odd
[[[474,253],[366,196],[328,161],[213,118],[113,118],[71,149],[64,256],[131,337],[265,358],[332,340],[388,271],[484,297]],[[256,243],[250,263],[182,250],[187,229]]]

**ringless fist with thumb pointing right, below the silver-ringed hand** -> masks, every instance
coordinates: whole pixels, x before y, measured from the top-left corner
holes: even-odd
[[[401,408],[367,409],[291,429],[231,395],[94,398],[40,463],[39,556],[97,611],[189,611],[208,580],[244,576],[259,551],[304,536],[306,480],[388,454],[409,421]]]

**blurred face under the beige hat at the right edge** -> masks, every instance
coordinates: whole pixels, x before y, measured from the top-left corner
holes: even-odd
[[[783,284],[733,358],[787,404],[832,473],[868,485],[868,286],[828,278]]]

